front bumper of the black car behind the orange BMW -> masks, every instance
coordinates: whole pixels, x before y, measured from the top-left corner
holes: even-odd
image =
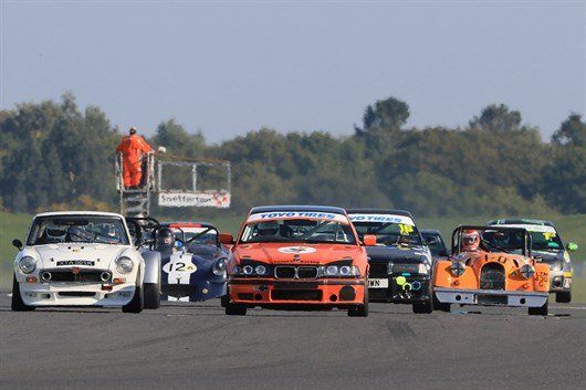
[[[381,283],[385,281],[385,283]],[[372,277],[368,301],[411,304],[431,299],[430,276],[423,274],[391,274],[388,277]]]

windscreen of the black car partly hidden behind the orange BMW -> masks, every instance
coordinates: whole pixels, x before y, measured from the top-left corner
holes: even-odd
[[[376,243],[379,245],[421,245],[421,236],[417,226],[410,224],[359,221],[353,223],[360,239],[365,234],[376,235]]]

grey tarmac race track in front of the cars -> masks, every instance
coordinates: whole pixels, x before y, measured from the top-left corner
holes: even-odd
[[[0,388],[583,389],[586,307],[551,312],[416,315],[372,304],[367,318],[262,309],[236,317],[213,301],[138,315],[12,313],[2,292]]]

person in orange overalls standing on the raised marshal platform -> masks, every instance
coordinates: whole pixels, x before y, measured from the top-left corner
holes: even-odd
[[[129,135],[124,137],[116,152],[122,152],[122,173],[125,188],[138,188],[143,178],[142,157],[153,152],[146,140],[136,134],[136,127],[130,127]]]

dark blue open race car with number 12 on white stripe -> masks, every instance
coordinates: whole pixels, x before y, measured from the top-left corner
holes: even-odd
[[[228,251],[209,223],[167,222],[150,230],[150,249],[160,256],[164,301],[207,301],[226,295]]]

